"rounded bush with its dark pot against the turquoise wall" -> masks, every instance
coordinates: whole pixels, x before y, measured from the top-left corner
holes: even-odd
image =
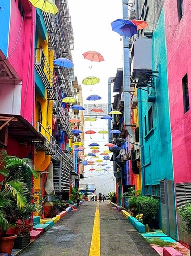
[[[154,217],[159,210],[159,200],[152,196],[142,196],[139,203],[143,213],[143,224],[148,224],[150,228],[158,228],[158,221]]]

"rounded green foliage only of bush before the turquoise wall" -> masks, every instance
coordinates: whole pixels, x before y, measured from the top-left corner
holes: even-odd
[[[152,219],[159,210],[159,200],[152,196],[140,197],[140,206],[143,216]]]

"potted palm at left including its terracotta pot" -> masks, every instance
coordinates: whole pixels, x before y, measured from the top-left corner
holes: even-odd
[[[30,191],[23,179],[16,178],[17,170],[23,168],[35,175],[31,159],[20,159],[8,156],[5,150],[0,152],[0,252],[11,255],[15,234],[8,234],[10,227],[16,226],[14,215],[15,206],[22,210],[30,196]],[[11,170],[14,170],[15,176]],[[36,176],[36,175],[35,175]]]

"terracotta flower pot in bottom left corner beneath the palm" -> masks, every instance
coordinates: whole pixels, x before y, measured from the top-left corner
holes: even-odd
[[[8,256],[11,256],[12,248],[14,246],[14,241],[17,235],[15,234],[6,234],[0,238],[0,252],[8,253]]]

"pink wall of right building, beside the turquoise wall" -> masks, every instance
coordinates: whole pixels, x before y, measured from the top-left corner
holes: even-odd
[[[182,78],[187,73],[191,104],[190,2],[183,1],[183,6],[184,14],[179,22],[177,0],[166,0],[164,4],[175,184],[191,181],[191,113],[190,110],[184,113],[182,89]]]

